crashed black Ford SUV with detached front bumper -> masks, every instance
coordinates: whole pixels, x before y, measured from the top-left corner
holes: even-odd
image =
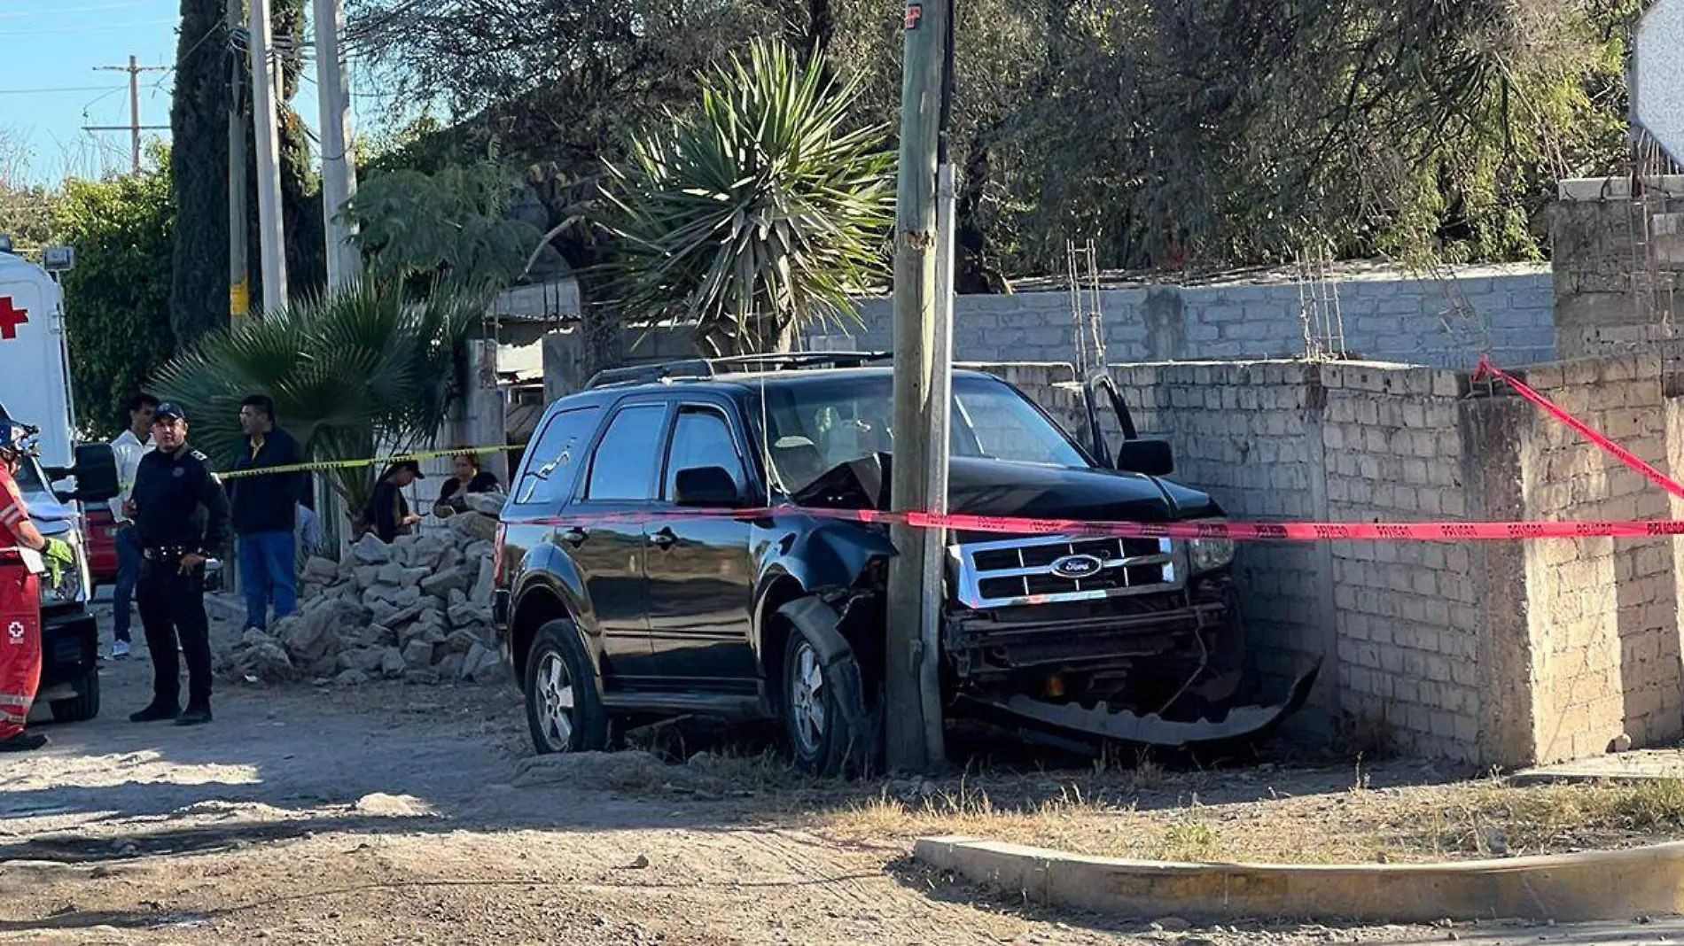
[[[623,369],[549,407],[504,508],[493,594],[539,752],[601,749],[616,722],[706,714],[781,717],[812,771],[876,757],[894,547],[884,525],[825,515],[889,508],[893,377],[872,359]],[[1110,392],[1127,443],[1101,463],[1010,384],[953,372],[950,508],[1219,517],[1155,475],[1167,446],[1135,438]],[[1314,680],[1282,705],[1234,705],[1243,635],[1226,540],[948,542],[950,710],[1179,746],[1268,729]]]

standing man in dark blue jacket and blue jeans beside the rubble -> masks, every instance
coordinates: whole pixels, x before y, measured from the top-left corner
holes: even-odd
[[[239,428],[246,449],[234,463],[229,493],[237,537],[239,582],[246,594],[246,626],[268,626],[269,603],[274,619],[298,604],[296,508],[303,500],[303,471],[251,473],[303,463],[303,449],[291,434],[274,426],[274,401],[253,394],[241,401]]]

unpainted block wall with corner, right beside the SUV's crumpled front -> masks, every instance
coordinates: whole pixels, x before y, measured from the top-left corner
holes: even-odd
[[[999,365],[1073,431],[1059,365]],[[1233,518],[1665,518],[1667,493],[1465,374],[1302,362],[1147,364],[1113,377],[1175,478]],[[1531,382],[1639,456],[1684,454],[1659,359],[1532,369]],[[1671,423],[1669,423],[1671,417]],[[1324,655],[1308,732],[1379,729],[1477,764],[1596,754],[1620,732],[1677,741],[1684,709],[1676,539],[1244,544],[1236,574],[1258,668]]]

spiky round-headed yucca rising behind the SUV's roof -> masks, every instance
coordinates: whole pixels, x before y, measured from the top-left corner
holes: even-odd
[[[881,274],[894,217],[886,128],[849,128],[859,81],[758,40],[701,86],[695,114],[669,116],[608,167],[621,318],[694,322],[697,347],[722,355],[854,316],[849,296]]]

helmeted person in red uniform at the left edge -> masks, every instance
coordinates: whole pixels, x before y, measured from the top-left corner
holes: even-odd
[[[35,429],[0,419],[0,752],[27,752],[47,744],[24,732],[40,683],[39,569],[76,567],[62,539],[49,539],[29,518],[13,475],[34,456]],[[25,555],[24,549],[40,555]],[[45,564],[42,564],[45,561]]]

